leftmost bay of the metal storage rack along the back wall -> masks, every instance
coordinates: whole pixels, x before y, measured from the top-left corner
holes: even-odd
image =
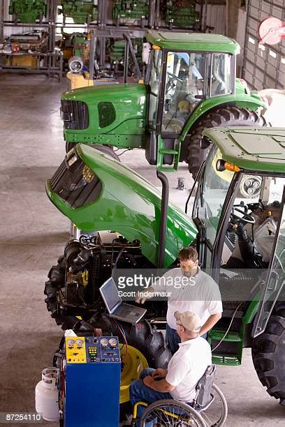
[[[34,52],[34,53],[4,53],[0,52],[0,73],[41,73],[46,74],[48,77],[57,76],[59,82],[61,82],[62,73],[63,73],[63,57],[61,52],[54,50],[55,47],[55,31],[56,31],[56,22],[57,22],[57,0],[47,1],[47,18],[43,22],[33,22],[33,23],[24,23],[24,22],[15,22],[4,20],[6,16],[4,0],[1,1],[1,13],[0,13],[0,41],[3,43],[4,40],[4,28],[5,27],[14,27],[14,28],[30,28],[30,29],[46,29],[48,33],[47,38],[47,52]],[[35,66],[15,66],[13,64],[8,64],[9,59],[13,57],[23,57],[24,55],[29,55],[34,57]]]

